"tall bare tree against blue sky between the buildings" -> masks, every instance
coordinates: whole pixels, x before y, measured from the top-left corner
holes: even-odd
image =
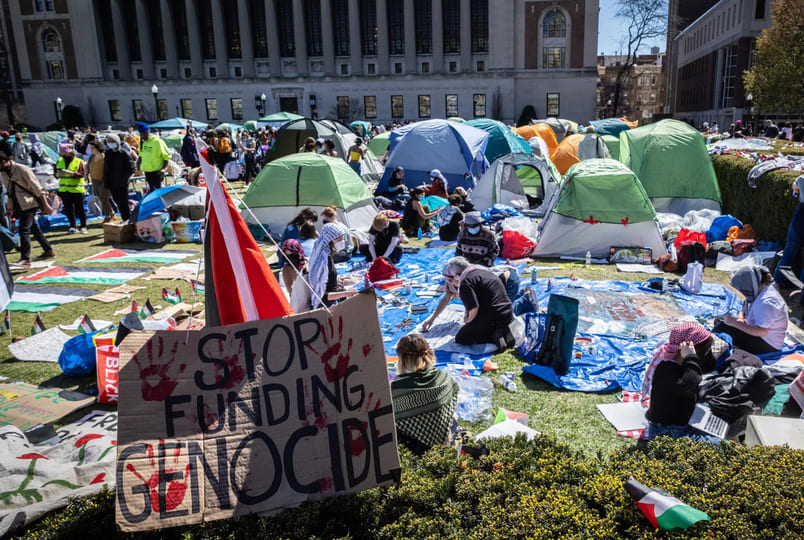
[[[620,42],[625,55],[614,79],[611,95],[611,110],[614,117],[622,112],[622,94],[628,87],[631,72],[637,63],[639,49],[646,41],[664,36],[667,32],[667,2],[666,0],[618,0],[616,17],[627,21],[628,27]]]

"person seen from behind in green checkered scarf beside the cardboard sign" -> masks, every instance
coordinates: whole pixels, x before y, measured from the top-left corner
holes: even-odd
[[[416,454],[448,444],[458,383],[434,367],[435,353],[420,334],[400,339],[396,354],[398,375],[391,381],[391,399],[399,442]]]

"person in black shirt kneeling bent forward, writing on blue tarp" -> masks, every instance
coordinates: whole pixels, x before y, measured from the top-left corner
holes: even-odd
[[[500,278],[488,268],[471,265],[463,257],[453,257],[444,265],[444,280],[447,285],[445,298],[451,291],[457,290],[466,310],[464,325],[455,335],[455,343],[493,343],[499,351],[515,345],[516,340],[510,330],[515,319],[514,308]],[[439,304],[439,308],[443,310],[447,303],[449,301],[443,307]],[[429,330],[439,313],[436,308],[436,312],[422,325],[422,330]]]

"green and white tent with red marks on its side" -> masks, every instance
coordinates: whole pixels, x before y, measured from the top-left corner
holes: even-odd
[[[656,212],[639,179],[613,159],[587,159],[567,171],[539,225],[533,255],[606,257],[612,246],[666,250]]]

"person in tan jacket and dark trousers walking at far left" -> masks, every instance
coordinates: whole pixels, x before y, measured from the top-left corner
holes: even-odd
[[[37,209],[41,209],[44,214],[53,213],[39,180],[36,179],[30,167],[15,163],[11,156],[3,152],[0,152],[0,173],[2,173],[3,185],[8,186],[8,204],[19,223],[20,260],[17,266],[31,267],[31,234],[42,246],[43,251],[36,260],[54,258],[53,248],[36,223]]]

